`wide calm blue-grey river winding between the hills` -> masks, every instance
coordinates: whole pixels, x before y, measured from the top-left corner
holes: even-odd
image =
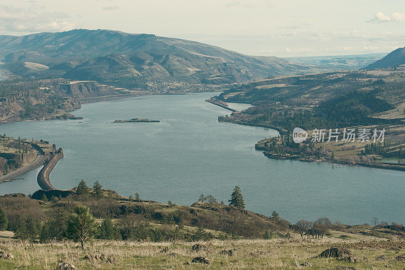
[[[205,102],[211,96],[85,104],[74,112],[83,120],[15,122],[0,125],[0,133],[62,147],[65,157],[51,173],[59,189],[83,178],[124,196],[138,192],[142,199],[190,205],[201,193],[226,202],[238,185],[247,209],[265,215],[276,210],[290,222],[321,216],[352,224],[371,223],[373,216],[405,222],[405,172],[268,159],[254,145],[277,132],[218,123],[218,115],[230,112]],[[160,123],[110,123],[134,117]],[[0,194],[34,192],[38,170],[1,184]]]

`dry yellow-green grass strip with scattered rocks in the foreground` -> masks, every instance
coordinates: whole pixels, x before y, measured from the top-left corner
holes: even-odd
[[[55,269],[60,262],[69,262],[76,269],[403,269],[405,261],[395,257],[405,253],[405,243],[399,239],[383,239],[332,231],[323,239],[301,240],[297,234],[291,239],[272,240],[212,240],[199,242],[206,248],[193,251],[192,242],[124,242],[95,241],[82,250],[77,243],[32,244],[19,242],[2,232],[0,250],[14,255],[0,259],[3,269]],[[332,246],[349,249],[357,262],[337,258],[316,257]],[[166,250],[164,250],[167,247]],[[232,250],[232,255],[222,254]],[[86,255],[102,259],[85,258]],[[385,255],[387,259],[376,260]],[[203,256],[209,264],[192,263]],[[309,262],[312,266],[300,264]]]

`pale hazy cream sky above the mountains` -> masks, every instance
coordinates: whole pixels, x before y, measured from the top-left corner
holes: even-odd
[[[405,0],[1,0],[0,34],[74,28],[153,33],[249,55],[388,53]]]

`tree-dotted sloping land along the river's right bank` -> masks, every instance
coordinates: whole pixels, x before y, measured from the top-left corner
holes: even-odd
[[[256,144],[269,158],[405,170],[405,99],[399,90],[404,81],[404,67],[267,77],[235,86],[207,102],[221,107],[227,102],[252,104],[219,116],[218,121],[279,131],[278,138]],[[299,144],[293,142],[296,127],[308,135]],[[313,131],[319,129],[328,134],[333,130],[340,137],[312,140]],[[349,129],[357,134],[384,130],[384,140],[370,140],[372,133],[366,140],[344,140],[344,130]]]

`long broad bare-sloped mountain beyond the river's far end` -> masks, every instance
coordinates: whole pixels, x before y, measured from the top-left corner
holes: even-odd
[[[255,57],[195,41],[76,29],[0,36],[0,78],[64,77],[132,84],[180,81],[207,84],[308,72],[276,57]]]

